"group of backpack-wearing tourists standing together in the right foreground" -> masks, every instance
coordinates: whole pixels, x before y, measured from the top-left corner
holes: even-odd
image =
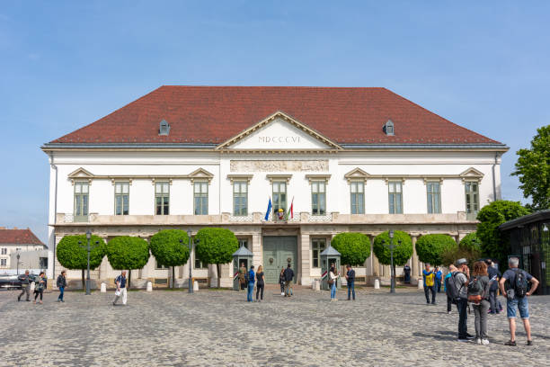
[[[527,345],[533,345],[528,297],[537,290],[538,281],[518,266],[519,258],[510,257],[509,269],[501,276],[491,260],[475,262],[471,274],[468,262],[464,258],[459,259],[456,266],[449,266],[449,273],[445,277],[448,312],[450,313],[451,303],[457,305],[458,341],[467,342],[475,339],[479,345],[489,345],[487,318],[488,314],[501,312],[500,302],[497,300],[497,290],[500,289],[501,295],[507,300],[506,312],[510,326],[510,340],[505,345],[516,345],[516,309],[519,309],[519,316],[523,320],[528,337]],[[469,305],[474,309],[475,336],[467,332]]]

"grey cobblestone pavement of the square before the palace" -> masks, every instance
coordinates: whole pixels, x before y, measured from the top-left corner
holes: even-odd
[[[113,307],[112,291],[45,294],[43,305],[0,292],[0,365],[550,365],[550,297],[529,299],[533,346],[519,325],[519,346],[505,315],[489,318],[491,345],[457,342],[457,312],[425,304],[423,292],[370,288],[358,300],[329,292],[269,288],[264,302],[244,291],[130,291]],[[503,300],[503,299],[501,299]],[[474,333],[474,315],[468,318]]]

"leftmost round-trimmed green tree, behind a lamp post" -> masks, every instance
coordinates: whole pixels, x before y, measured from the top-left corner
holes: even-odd
[[[78,242],[81,242],[80,244]],[[63,267],[70,270],[82,270],[82,289],[85,288],[84,270],[88,268],[88,251],[86,235],[65,236],[61,238],[56,246],[56,255],[58,262]],[[94,236],[90,238],[90,269],[95,269],[102,264],[105,256],[105,241],[102,237]]]

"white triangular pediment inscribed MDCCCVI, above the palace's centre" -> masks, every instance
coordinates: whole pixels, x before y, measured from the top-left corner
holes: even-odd
[[[324,137],[284,112],[275,112],[217,146],[217,150],[340,150]]]

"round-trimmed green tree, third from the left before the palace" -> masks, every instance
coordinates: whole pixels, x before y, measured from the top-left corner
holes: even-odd
[[[184,265],[189,260],[188,243],[189,237],[181,229],[163,229],[149,240],[151,254],[158,264],[172,266],[172,288],[175,280],[174,267]]]

